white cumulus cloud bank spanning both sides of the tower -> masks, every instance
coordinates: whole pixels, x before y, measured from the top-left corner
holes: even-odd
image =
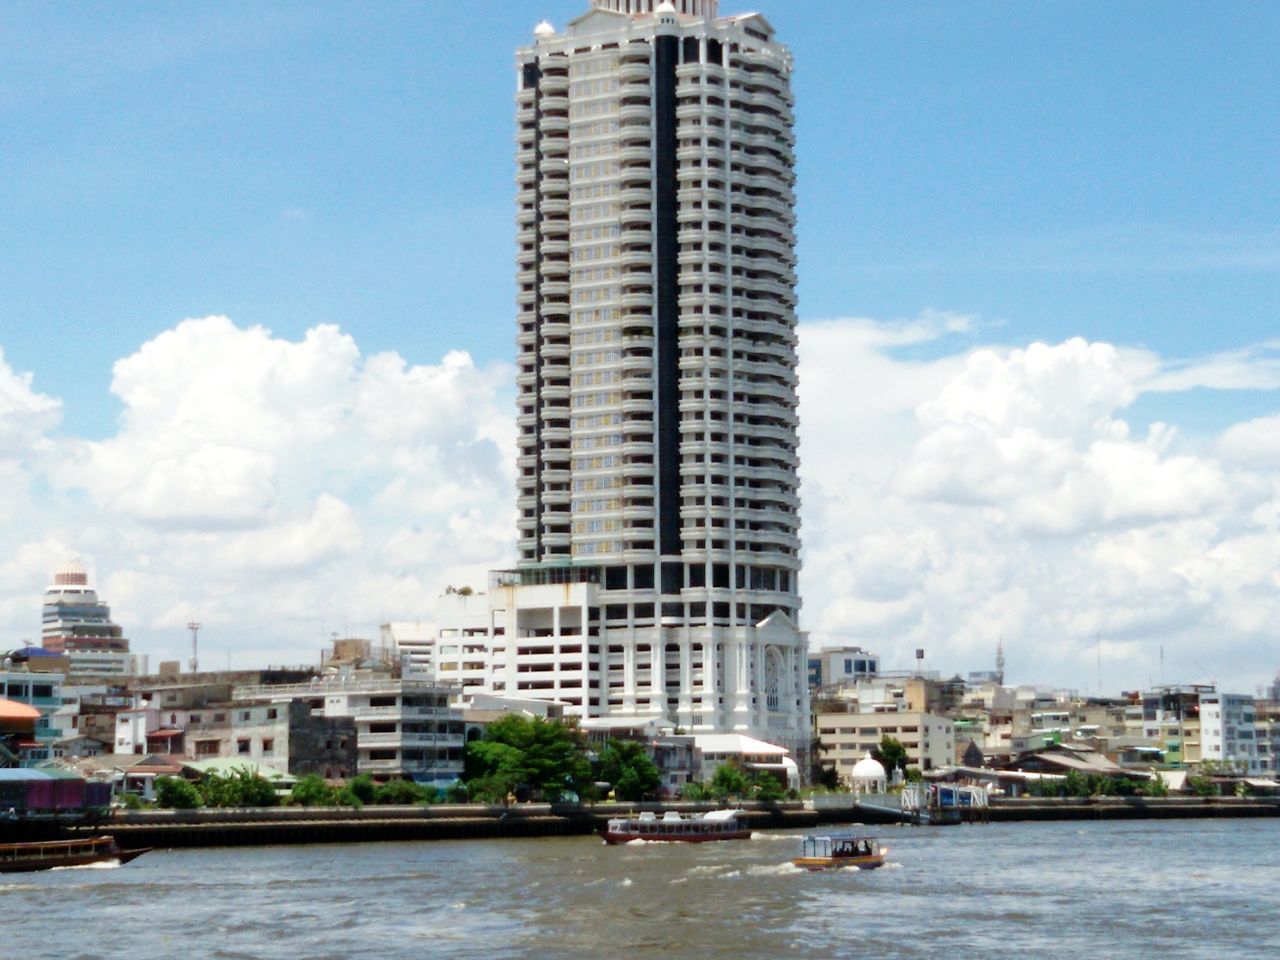
[[[1280,666],[1280,417],[1188,449],[1135,431],[1143,394],[1267,383],[1271,349],[1167,361],[1106,343],[986,346],[925,314],[800,328],[803,621],[887,667],[946,672],[1004,643],[1027,682],[1132,689]],[[1224,355],[1225,356],[1225,355]],[[1178,379],[1183,378],[1183,379]],[[1251,389],[1257,389],[1256,385]],[[56,435],[59,403],[0,360],[0,630],[38,635],[73,556],[138,649],[312,662],[332,632],[431,618],[515,548],[513,371],[466,353],[365,357],[187,320],[115,366],[118,431]],[[1280,408],[1280,397],[1277,397]],[[1172,420],[1172,419],[1170,419]],[[8,513],[4,513],[8,511]]]

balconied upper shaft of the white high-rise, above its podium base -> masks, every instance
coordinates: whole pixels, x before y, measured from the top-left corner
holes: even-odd
[[[596,0],[518,63],[521,564],[794,618],[790,54],[714,0]]]

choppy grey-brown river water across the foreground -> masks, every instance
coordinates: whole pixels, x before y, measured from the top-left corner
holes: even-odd
[[[1221,957],[1280,943],[1280,819],[887,827],[879,870],[797,832],[155,851],[0,876],[0,959]]]

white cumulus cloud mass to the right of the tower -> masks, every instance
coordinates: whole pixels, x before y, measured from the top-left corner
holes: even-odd
[[[1247,690],[1280,666],[1280,422],[1234,426],[1204,454],[1174,426],[1135,436],[1125,420],[1146,392],[1267,383],[1266,344],[1231,355],[1243,366],[1225,376],[1219,358],[1082,339],[946,351],[937,328],[938,358],[920,364],[895,356],[893,328],[800,329],[818,643],[902,668],[924,648],[964,672],[989,668],[1002,641],[1014,677],[1080,689],[1097,687],[1101,645],[1112,692],[1158,681],[1162,649],[1166,678],[1208,678],[1212,664]],[[846,420],[883,444],[850,445]]]

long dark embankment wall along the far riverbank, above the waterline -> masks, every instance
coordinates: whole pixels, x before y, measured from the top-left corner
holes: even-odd
[[[696,814],[707,804],[513,804],[351,808],[262,808],[116,812],[96,827],[68,831],[111,833],[120,846],[205,847],[278,844],[351,844],[390,840],[474,840],[581,836],[611,817],[652,810]],[[1280,817],[1280,799],[1257,797],[993,797],[987,820],[1117,820],[1217,817]],[[806,809],[804,804],[744,804],[751,829],[812,829],[864,820],[852,809]]]

